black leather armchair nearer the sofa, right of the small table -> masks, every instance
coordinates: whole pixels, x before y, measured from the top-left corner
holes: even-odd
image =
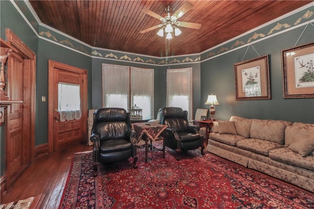
[[[203,136],[199,133],[199,127],[189,126],[186,110],[183,111],[180,107],[164,107],[160,111],[162,114],[159,123],[168,126],[164,138],[165,146],[177,152],[201,147],[201,154],[205,154]]]

